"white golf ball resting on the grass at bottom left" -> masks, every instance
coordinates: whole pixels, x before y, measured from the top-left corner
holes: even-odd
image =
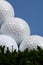
[[[7,35],[0,35],[0,46],[5,46],[5,51],[7,50],[7,47],[9,48],[10,52],[12,52],[12,47],[13,51],[14,50],[18,51],[16,41]]]

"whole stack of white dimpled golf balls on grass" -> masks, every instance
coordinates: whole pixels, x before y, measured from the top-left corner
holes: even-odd
[[[15,17],[12,5],[5,1],[0,1],[0,45],[9,47],[12,52],[18,49],[24,51],[28,49],[37,49],[37,46],[43,48],[43,37],[30,35],[30,26],[21,18]],[[6,48],[5,48],[6,50]]]

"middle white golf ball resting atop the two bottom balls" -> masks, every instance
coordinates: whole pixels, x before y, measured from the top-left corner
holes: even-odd
[[[30,35],[29,25],[21,18],[9,18],[1,27],[1,33],[13,37],[18,45],[28,35]]]

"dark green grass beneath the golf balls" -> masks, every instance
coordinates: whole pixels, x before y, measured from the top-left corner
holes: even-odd
[[[0,46],[0,65],[43,65],[43,49],[37,46],[37,50],[24,52],[10,52],[7,48],[4,52],[5,46]]]

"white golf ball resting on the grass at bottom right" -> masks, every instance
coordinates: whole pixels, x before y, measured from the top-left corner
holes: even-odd
[[[22,41],[20,44],[19,50],[24,51],[26,48],[29,50],[37,49],[37,46],[41,46],[42,37],[38,35],[32,35],[27,37],[25,40]]]

